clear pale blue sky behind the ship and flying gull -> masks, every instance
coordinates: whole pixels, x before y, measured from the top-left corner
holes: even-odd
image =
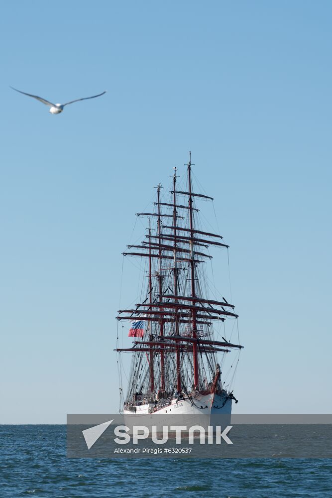
[[[2,5],[1,423],[118,409],[121,251],[190,149],[230,244],[237,412],[331,412],[331,17],[329,1]],[[9,85],[108,93],[52,116]]]

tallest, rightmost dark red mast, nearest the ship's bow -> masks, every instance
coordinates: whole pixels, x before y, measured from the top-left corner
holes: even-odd
[[[191,185],[191,152],[189,152],[189,163],[188,163],[188,184],[189,184],[189,219],[190,219],[190,250],[191,250],[191,295],[193,298],[196,297],[195,291],[195,261],[194,261],[194,217],[193,217],[193,197],[192,197],[192,185]],[[175,190],[175,189],[174,189]],[[197,339],[197,324],[196,324],[196,301],[192,301],[193,310],[193,339]],[[199,370],[198,370],[198,354],[197,354],[197,342],[193,343],[193,360],[194,360],[194,385],[195,388],[199,388]]]

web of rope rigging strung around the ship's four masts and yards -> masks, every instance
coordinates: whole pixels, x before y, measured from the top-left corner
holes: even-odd
[[[140,345],[139,343],[135,343],[131,349],[127,346],[126,349],[132,351],[131,366],[128,377],[125,374],[121,358],[122,355],[120,354],[120,351],[118,351],[117,369],[120,385],[119,391],[121,406],[123,406],[123,403],[130,404],[133,400],[138,400],[138,397],[141,396],[143,397],[142,402],[150,398],[152,399],[152,397],[155,396],[155,392],[159,392],[160,390],[165,392],[165,394],[162,393],[164,399],[169,396],[172,397],[176,386],[179,385],[179,378],[180,390],[182,389],[183,392],[187,394],[187,397],[190,399],[191,403],[195,404],[195,394],[193,393],[212,389],[213,379],[216,379],[215,385],[218,389],[219,385],[221,386],[220,388],[229,387],[235,377],[240,349],[234,361],[234,368],[233,362],[226,375],[220,371],[219,376],[222,375],[221,381],[216,373],[217,367],[219,368],[219,366],[221,366],[220,369],[223,369],[228,348],[226,350],[218,350],[218,348],[216,348],[213,344],[206,344],[207,342],[209,343],[209,341],[202,341],[203,338],[209,338],[212,343],[218,340],[221,344],[222,339],[227,346],[228,343],[232,346],[231,337],[235,326],[234,317],[236,319],[238,344],[239,331],[237,315],[226,311],[232,309],[227,308],[226,306],[232,305],[228,304],[227,301],[221,296],[215,285],[215,275],[210,254],[210,249],[215,248],[215,246],[212,245],[213,242],[211,241],[210,243],[209,239],[206,241],[207,254],[205,254],[206,250],[204,249],[204,252],[200,252],[201,257],[204,258],[203,262],[205,262],[206,257],[207,259],[210,259],[211,268],[210,265],[198,264],[198,262],[194,259],[195,247],[196,245],[204,244],[204,236],[198,235],[195,237],[192,227],[195,227],[198,234],[207,234],[205,236],[206,238],[213,237],[215,230],[209,220],[207,220],[204,215],[202,216],[201,213],[199,214],[195,205],[196,200],[194,196],[200,197],[200,202],[202,200],[208,202],[208,199],[204,198],[208,196],[205,195],[202,199],[200,194],[191,193],[197,192],[197,190],[190,182],[190,166],[191,162],[189,162],[188,165],[189,177],[187,177],[186,180],[178,182],[176,188],[175,182],[177,176],[174,176],[174,179],[170,184],[170,189],[173,188],[173,190],[168,190],[168,192],[166,192],[166,189],[161,191],[160,185],[157,187],[157,202],[153,202],[154,214],[156,214],[155,217],[152,217],[154,225],[149,231],[148,236],[144,233],[143,236],[135,239],[135,244],[139,244],[140,241],[144,241],[145,237],[148,237],[148,240],[150,241],[149,243],[146,242],[145,238],[145,244],[143,242],[143,246],[138,246],[143,251],[144,249],[149,251],[144,254],[148,257],[140,257],[140,262],[138,264],[134,263],[136,257],[128,257],[130,259],[130,263],[139,270],[136,291],[136,295],[138,297],[136,297],[130,306],[126,308],[127,311],[119,311],[116,329],[116,348],[117,350],[124,350],[123,332],[128,331],[128,327],[130,327],[130,325],[127,325],[126,327],[122,325],[120,329],[121,334],[119,333],[118,326],[120,320],[128,318],[132,318],[132,323],[136,321],[143,324],[140,326],[140,330],[143,331],[142,335],[138,337],[141,337],[141,341],[145,344]],[[196,179],[194,175],[192,176]],[[199,184],[198,181],[197,183]],[[169,195],[170,191],[172,192],[171,195]],[[202,191],[204,192],[203,188]],[[189,196],[189,201],[187,196]],[[176,200],[177,197],[181,197],[180,204]],[[185,198],[185,201],[183,201],[183,197]],[[189,208],[185,206],[186,201],[189,202]],[[173,223],[162,223],[162,218],[160,218],[160,207],[163,208],[165,216],[173,215]],[[148,209],[148,206],[145,209]],[[214,204],[213,210],[215,213]],[[144,215],[144,212],[142,212],[141,215],[142,214]],[[201,225],[200,221],[200,218],[202,217],[206,220],[208,225],[210,225],[213,233],[204,232],[204,227]],[[134,231],[137,228],[137,218],[140,218],[140,223],[143,225],[145,232],[145,225],[143,224],[144,218],[142,216],[137,216],[130,240],[133,239]],[[216,213],[215,219],[218,228]],[[186,237],[179,235],[181,227],[178,227],[177,223],[181,223],[181,226],[183,227],[190,227],[190,229],[186,228]],[[151,244],[151,233],[154,238],[153,244]],[[165,237],[167,242],[161,242],[161,237]],[[198,241],[203,242],[195,242],[197,239]],[[174,257],[169,256],[169,252],[172,251],[170,251],[167,246],[170,248],[173,247]],[[230,302],[232,303],[228,247],[226,249]],[[184,252],[185,257],[183,257],[181,250]],[[200,248],[198,248],[196,252],[199,250]],[[191,256],[189,255],[187,257],[188,252],[191,252]],[[128,255],[129,254],[130,253],[128,253]],[[121,267],[121,282],[119,290],[120,303],[122,299],[124,257],[125,256],[122,258]],[[150,287],[147,285],[147,277],[149,277],[151,281],[153,280]],[[131,278],[134,279],[133,276]],[[170,297],[167,297],[168,292],[170,292]],[[188,303],[188,301],[185,301],[185,296],[190,295],[192,295],[192,302]],[[182,300],[181,296],[184,296]],[[216,309],[216,305],[212,306],[209,302],[209,300],[211,300],[210,296],[215,299],[213,302],[216,302],[217,299],[219,299],[221,309]],[[197,298],[198,301],[196,301],[195,298]],[[188,298],[186,297],[186,299]],[[200,299],[201,302],[199,301]],[[137,302],[140,304],[134,304]],[[145,307],[143,305],[145,305]],[[122,318],[121,314],[124,312],[128,316]],[[229,320],[233,321],[229,322]],[[230,326],[230,330],[228,324]],[[132,329],[130,328],[129,335],[131,330]],[[221,336],[221,334],[223,334],[223,336]],[[164,337],[174,337],[175,343],[173,346],[168,344],[169,341],[165,341]],[[183,343],[183,341],[181,342],[181,337],[194,338],[194,341]],[[121,347],[119,343],[121,343]],[[240,346],[238,347],[241,348]],[[232,375],[229,382],[226,384],[230,372]],[[125,399],[122,387],[122,374],[126,378],[128,384]],[[194,382],[193,379],[195,379]]]

